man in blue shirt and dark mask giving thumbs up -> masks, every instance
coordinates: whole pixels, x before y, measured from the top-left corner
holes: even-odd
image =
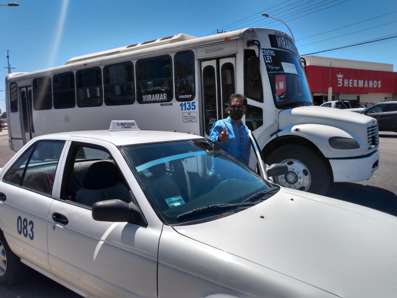
[[[234,157],[249,164],[251,142],[248,136],[248,127],[241,121],[247,110],[247,98],[240,93],[230,96],[229,117],[216,121],[210,132],[209,140],[226,150]],[[211,172],[214,170],[214,165]]]

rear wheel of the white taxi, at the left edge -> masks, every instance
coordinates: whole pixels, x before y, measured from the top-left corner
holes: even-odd
[[[23,279],[27,267],[11,251],[0,231],[0,285],[9,286]]]

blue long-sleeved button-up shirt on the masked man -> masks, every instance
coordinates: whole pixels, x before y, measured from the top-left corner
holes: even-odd
[[[226,127],[226,133],[229,134],[229,140],[226,142],[218,142],[218,137]],[[251,142],[248,136],[248,127],[242,123],[238,126],[232,118],[218,120],[212,125],[209,132],[209,140],[226,150],[234,157],[245,163],[250,162]]]

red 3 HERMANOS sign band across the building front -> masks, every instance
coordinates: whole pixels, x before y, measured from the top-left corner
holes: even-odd
[[[309,65],[306,75],[312,92],[365,94],[397,93],[397,73]]]

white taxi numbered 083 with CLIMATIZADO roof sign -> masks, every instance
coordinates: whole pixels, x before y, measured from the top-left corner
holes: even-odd
[[[396,297],[397,218],[113,125],[37,137],[0,170],[0,284],[27,265],[83,297]]]

